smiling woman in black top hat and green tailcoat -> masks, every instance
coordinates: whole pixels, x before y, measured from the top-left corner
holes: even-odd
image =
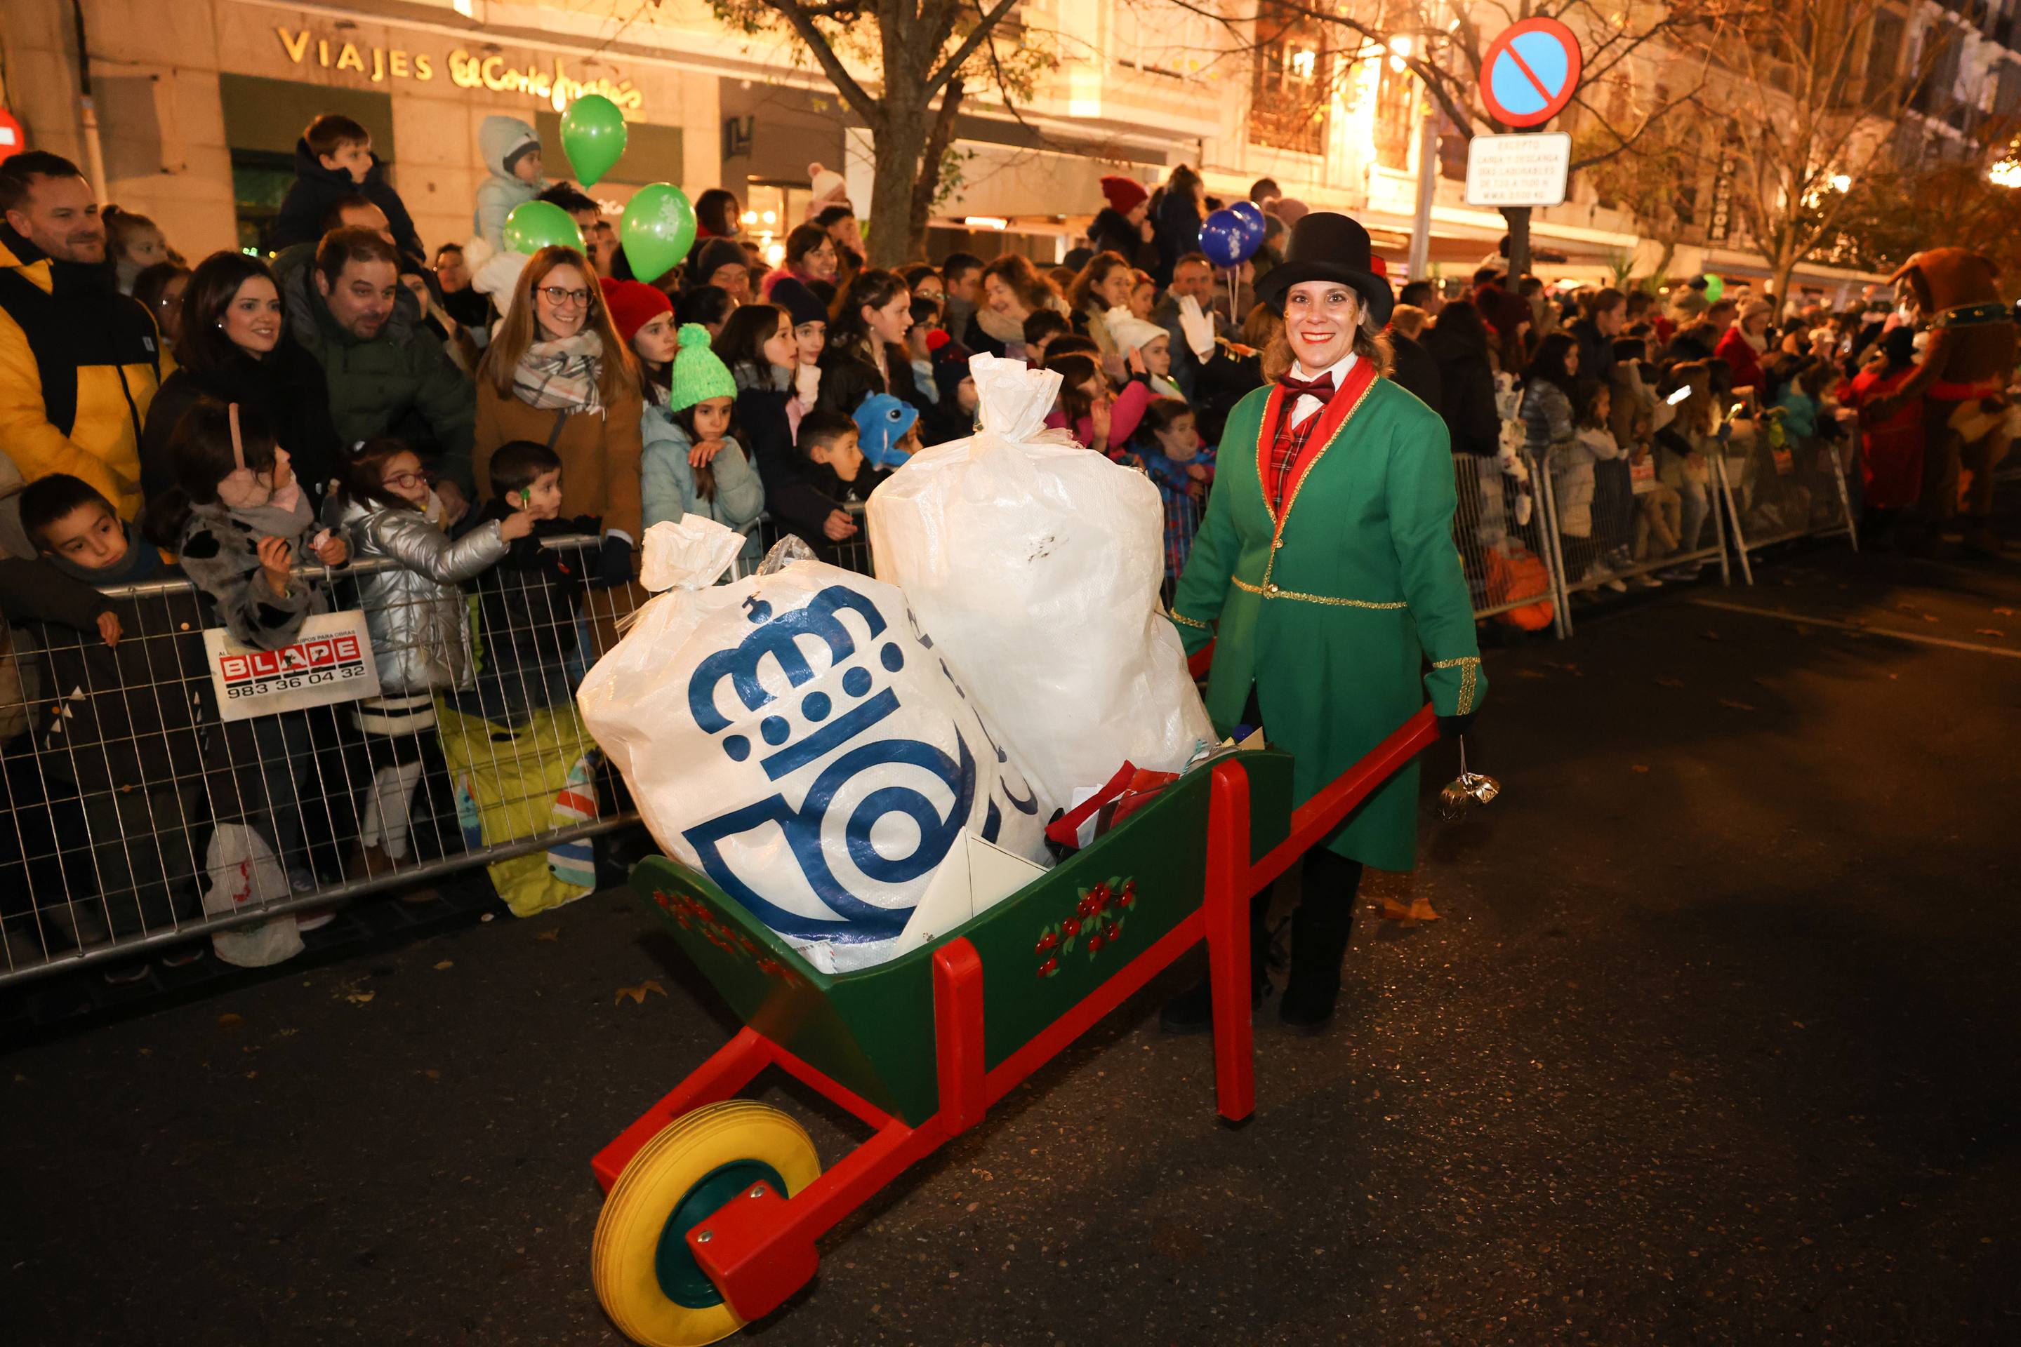
[[[1308,214],[1257,299],[1285,319],[1265,355],[1265,370],[1281,374],[1229,414],[1172,620],[1188,652],[1215,642],[1215,723],[1263,725],[1295,753],[1293,804],[1304,804],[1427,697],[1441,729],[1457,733],[1487,681],[1453,547],[1445,422],[1382,378],[1392,297],[1368,232],[1340,214]],[[1362,866],[1409,870],[1415,856],[1413,763],[1306,856],[1277,1006],[1285,1024],[1316,1032],[1334,1014]],[[1267,907],[1263,893],[1251,909],[1259,1006]],[[1209,1028],[1207,983],[1170,1002],[1160,1022]]]

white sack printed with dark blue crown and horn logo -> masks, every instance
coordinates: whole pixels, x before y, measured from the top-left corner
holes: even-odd
[[[879,963],[962,830],[1045,856],[1039,804],[887,584],[819,561],[728,586],[744,539],[645,539],[669,584],[582,683],[647,828],[814,967]]]

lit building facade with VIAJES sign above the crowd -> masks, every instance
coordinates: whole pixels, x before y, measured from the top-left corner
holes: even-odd
[[[1196,0],[1023,0],[1000,32],[1049,61],[1015,111],[970,89],[934,210],[936,250],[1013,244],[1053,261],[1101,206],[1103,174],[1150,186],[1192,164],[1223,198],[1269,176],[1312,208],[1354,212],[1401,261],[1429,145],[1433,269],[1469,273],[1506,224],[1465,204],[1463,141],[1405,65],[1415,42],[1439,34],[1411,32],[1397,16],[1409,6],[1342,4],[1368,10],[1364,26],[1388,40],[1348,40],[1312,6],[1269,0],[1231,6],[1227,20]],[[1875,34],[1882,55],[1916,50],[1930,26],[1958,38],[1888,129],[1902,156],[1940,153],[1985,117],[2021,115],[2017,6],[1922,2]],[[594,188],[610,212],[647,182],[689,196],[728,186],[752,232],[776,240],[800,220],[814,162],[869,200],[869,135],[821,71],[786,34],[732,32],[705,0],[10,0],[0,53],[6,105],[30,143],[75,158],[105,200],[154,216],[190,256],[261,244],[293,176],[295,139],[323,111],[372,129],[428,244],[471,232],[483,117],[536,123],[550,178],[572,176],[560,115],[590,91],[631,121],[624,160]],[[1651,48],[1617,83],[1647,99],[1665,79]],[[1554,129],[1576,133],[1578,121],[1574,109]],[[1572,198],[1532,220],[1534,244],[1564,258],[1540,273],[1750,269],[1732,166],[1710,139],[1661,216],[1643,218],[1574,176]],[[1831,279],[1831,269],[1811,271]]]

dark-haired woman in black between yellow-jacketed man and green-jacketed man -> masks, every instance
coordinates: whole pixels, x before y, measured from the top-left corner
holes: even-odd
[[[295,481],[311,503],[319,499],[342,460],[329,420],[329,382],[321,361],[289,333],[281,289],[267,263],[245,252],[212,252],[196,265],[172,307],[174,327],[162,321],[166,307],[154,307],[164,345],[174,333],[176,372],[168,374],[164,361],[162,390],[148,404],[139,436],[141,497],[160,499],[174,485],[168,442],[176,422],[198,398],[216,398],[224,406],[238,402],[265,412],[293,462]]]

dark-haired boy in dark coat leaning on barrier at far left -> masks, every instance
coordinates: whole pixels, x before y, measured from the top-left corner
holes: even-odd
[[[202,600],[186,586],[137,598],[101,594],[162,578],[162,557],[77,477],[32,483],[20,515],[42,553],[32,563],[40,616],[91,632],[44,636],[36,765],[46,782],[77,788],[89,834],[89,856],[65,858],[63,893],[51,897],[77,903],[97,893],[113,933],[160,931],[196,911],[194,832],[208,812],[200,727],[214,719]],[[26,616],[12,594],[4,602],[10,618]],[[97,913],[79,921],[81,931],[87,925],[103,939]]]

